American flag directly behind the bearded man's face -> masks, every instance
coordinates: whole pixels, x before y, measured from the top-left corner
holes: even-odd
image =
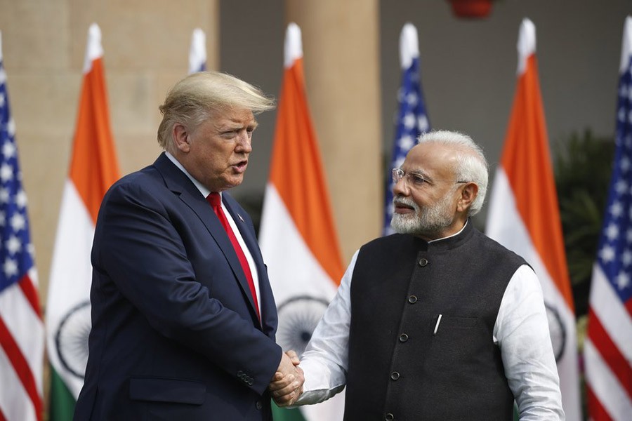
[[[393,178],[390,177],[391,168],[400,168],[406,154],[412,148],[419,135],[430,130],[426,105],[421,91],[421,77],[419,71],[419,45],[417,29],[407,23],[400,34],[400,60],[402,62],[402,86],[397,93],[399,112],[397,114],[397,128],[393,144],[393,157],[384,194],[384,229],[383,234],[393,234],[390,220],[393,218]]]

